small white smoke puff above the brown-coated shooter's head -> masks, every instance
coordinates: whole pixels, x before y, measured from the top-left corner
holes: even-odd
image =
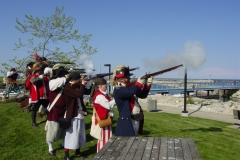
[[[94,65],[91,56],[83,53],[79,56],[79,61],[85,69],[86,74],[91,75],[94,71]]]

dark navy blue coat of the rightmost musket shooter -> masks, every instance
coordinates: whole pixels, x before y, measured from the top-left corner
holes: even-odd
[[[138,85],[114,89],[114,99],[119,112],[115,136],[135,136],[131,119],[130,100],[134,95],[138,98],[146,98],[149,90],[150,87],[146,86],[141,90]]]

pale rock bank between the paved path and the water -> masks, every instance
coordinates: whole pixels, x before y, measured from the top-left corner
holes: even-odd
[[[236,95],[239,95],[240,98],[240,91],[237,91],[235,93]],[[157,106],[158,108],[161,106],[165,107],[184,107],[184,98],[183,97],[174,97],[171,95],[161,95],[161,94],[155,94],[155,95],[148,95],[146,99],[138,99],[139,103],[148,104],[148,99],[154,99],[157,100]],[[240,103],[235,101],[228,101],[228,102],[222,102],[220,100],[215,99],[204,99],[204,98],[198,98],[198,97],[191,97],[192,104],[187,104],[188,109],[192,110],[201,110],[206,112],[214,112],[219,114],[233,114],[233,109],[239,109],[240,110]]]

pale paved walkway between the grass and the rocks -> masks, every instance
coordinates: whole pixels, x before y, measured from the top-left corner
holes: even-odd
[[[146,103],[140,103],[140,105],[142,106],[143,110],[148,110]],[[160,112],[180,114],[180,115],[182,115],[182,111],[183,111],[183,109],[179,108],[179,107],[164,107],[164,106],[159,106],[159,105],[157,106],[157,110],[159,110]],[[240,124],[240,120],[234,119],[233,115],[205,112],[205,111],[201,111],[201,110],[197,110],[197,111],[190,110],[190,109],[186,109],[186,110],[188,111],[189,116],[217,120],[217,121],[222,121],[222,122],[228,122],[228,123],[232,123],[233,125],[234,125],[234,123]]]

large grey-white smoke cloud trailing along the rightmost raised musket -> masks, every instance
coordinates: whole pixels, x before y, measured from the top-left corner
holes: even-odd
[[[206,61],[206,53],[203,45],[200,42],[186,42],[183,50],[178,54],[167,53],[165,58],[148,58],[143,60],[144,66],[149,69],[166,69],[176,65],[183,64],[188,70],[197,70]],[[184,69],[183,68],[183,69]],[[181,69],[181,73],[183,72]]]

